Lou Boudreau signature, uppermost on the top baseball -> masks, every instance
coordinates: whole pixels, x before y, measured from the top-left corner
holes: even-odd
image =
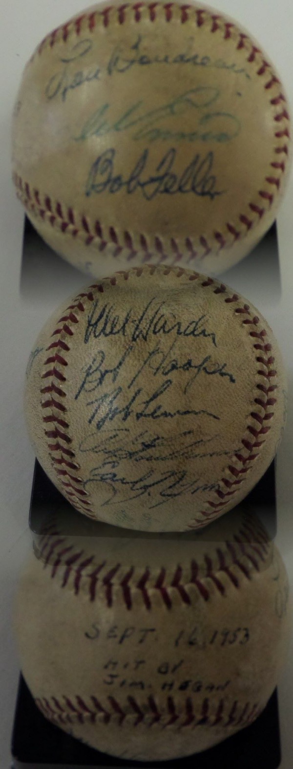
[[[82,88],[86,83],[98,82],[102,75],[124,75],[133,68],[146,68],[153,65],[161,65],[163,68],[179,66],[192,66],[204,69],[223,69],[226,72],[235,75],[243,75],[250,80],[250,75],[245,67],[239,67],[236,62],[226,62],[222,58],[212,58],[211,56],[202,56],[196,53],[195,38],[189,38],[186,42],[186,48],[182,51],[172,52],[164,55],[147,54],[145,41],[141,35],[138,35],[136,41],[130,48],[123,48],[123,44],[117,45],[110,54],[110,58],[105,62],[104,68],[100,65],[87,65],[87,55],[93,52],[94,43],[91,39],[78,41],[69,53],[60,58],[61,68],[58,69],[48,81],[45,88],[45,95],[48,99],[60,98],[66,102],[68,94],[77,88]],[[144,50],[142,50],[142,45]],[[76,62],[75,69],[74,62]],[[72,72],[72,65],[74,72]]]

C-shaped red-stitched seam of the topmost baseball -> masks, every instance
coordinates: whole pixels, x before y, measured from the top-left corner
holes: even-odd
[[[100,23],[107,28],[110,23],[117,21],[118,24],[126,22],[128,15],[132,21],[139,23],[142,19],[148,18],[150,22],[156,22],[157,18],[163,18],[170,23],[173,18],[179,22],[194,22],[197,28],[205,25],[211,34],[222,34],[223,40],[234,40],[237,50],[244,49],[247,53],[245,61],[255,68],[255,74],[263,78],[263,85],[266,92],[274,90],[270,105],[272,106],[273,120],[277,124],[275,129],[276,145],[273,150],[272,161],[270,162],[268,173],[265,175],[263,188],[257,191],[255,200],[248,203],[245,213],[240,213],[238,219],[234,222],[226,221],[224,231],[214,231],[209,238],[205,234],[199,235],[195,243],[193,238],[185,238],[184,243],[179,239],[170,238],[170,241],[160,237],[153,236],[152,241],[147,235],[140,233],[133,235],[130,231],[119,232],[114,225],[103,227],[99,220],[90,221],[86,215],[74,211],[71,206],[66,206],[61,201],[53,200],[50,195],[38,189],[31,188],[29,182],[24,180],[17,173],[13,175],[18,198],[22,205],[31,214],[32,217],[41,218],[42,221],[51,225],[52,228],[58,228],[61,233],[70,235],[72,238],[81,238],[84,245],[94,245],[97,251],[102,253],[107,246],[111,246],[114,257],[125,252],[127,261],[142,257],[143,263],[150,262],[153,256],[160,258],[160,263],[166,261],[173,255],[173,264],[185,255],[189,255],[188,264],[192,265],[193,260],[204,260],[211,252],[218,254],[225,248],[231,248],[235,241],[244,238],[245,235],[265,215],[265,212],[272,208],[275,200],[275,193],[279,191],[281,179],[285,174],[286,161],[288,158],[288,141],[290,138],[288,131],[288,122],[290,117],[286,108],[285,95],[280,91],[280,82],[276,77],[272,66],[265,61],[260,49],[256,48],[248,35],[239,32],[231,22],[226,22],[221,15],[212,15],[208,10],[196,9],[191,5],[179,6],[174,3],[165,5],[160,3],[151,3],[147,5],[138,2],[134,5],[124,4],[120,6],[109,6],[104,10],[97,10],[91,13],[84,13],[73,22],[69,22],[51,32],[41,45],[38,47],[38,55],[46,48],[53,48],[58,42],[63,45],[67,43],[71,35],[79,37],[84,30],[93,34],[97,25]],[[32,59],[35,58],[35,55]]]

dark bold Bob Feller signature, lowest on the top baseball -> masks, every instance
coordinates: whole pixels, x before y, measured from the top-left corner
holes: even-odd
[[[154,172],[150,174],[149,150],[143,150],[142,155],[134,165],[130,175],[126,178],[115,171],[114,161],[116,150],[110,148],[94,161],[87,178],[85,194],[115,193],[121,190],[127,191],[127,195],[133,195],[141,191],[143,198],[150,201],[157,195],[197,195],[201,198],[214,198],[224,194],[224,190],[216,189],[216,176],[212,173],[214,155],[208,152],[203,158],[196,153],[193,160],[179,172],[174,171],[176,162],[176,149],[171,148],[163,155],[162,160],[156,165]]]

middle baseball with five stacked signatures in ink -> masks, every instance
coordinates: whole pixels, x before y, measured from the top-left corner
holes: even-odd
[[[144,531],[199,528],[238,504],[275,456],[285,402],[262,315],[212,278],[151,266],[64,302],[25,390],[35,454],[61,493]]]

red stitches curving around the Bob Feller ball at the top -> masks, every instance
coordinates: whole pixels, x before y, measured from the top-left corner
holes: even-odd
[[[125,3],[123,5],[118,6],[108,6],[107,8],[104,8],[104,10],[96,10],[91,13],[84,13],[79,18],[75,19],[74,22],[67,22],[65,25],[61,26],[60,28],[55,29],[53,32],[51,32],[50,35],[48,35],[44,40],[41,42],[41,45],[38,47],[38,53],[41,55],[41,52],[43,52],[45,45],[48,43],[48,45],[52,48],[56,43],[58,42],[58,39],[60,38],[61,41],[64,43],[67,42],[68,37],[70,36],[71,30],[75,32],[77,36],[81,35],[82,28],[85,29],[85,31],[90,32],[93,34],[94,30],[97,28],[97,19],[100,18],[102,24],[104,27],[107,28],[107,26],[110,24],[110,19],[113,16],[114,18],[117,18],[117,21],[120,25],[122,25],[127,18],[127,15],[131,15],[131,18],[133,18],[134,22],[140,23],[141,19],[143,18],[143,12],[146,12],[149,15],[150,22],[155,22],[156,18],[158,18],[158,8],[163,8],[164,12],[164,18],[167,23],[171,22],[174,15],[174,10],[176,9],[177,15],[180,15],[180,22],[182,24],[186,23],[189,19],[194,20],[197,27],[202,27],[202,25],[209,25],[209,31],[212,34],[222,32],[222,37],[224,40],[231,40],[232,35],[235,35],[235,45],[237,50],[241,50],[243,48],[248,49],[248,56],[247,56],[247,62],[251,64],[255,64],[257,66],[256,74],[259,77],[263,77],[264,75],[267,75],[270,71],[270,65],[268,62],[265,61],[265,58],[262,58],[262,52],[253,45],[252,41],[250,40],[248,35],[243,34],[242,32],[239,32],[238,28],[233,25],[231,22],[226,22],[226,19],[223,18],[221,15],[212,14],[212,12],[209,12],[206,9],[196,9],[193,7],[193,5],[183,5],[178,6],[176,3],[173,2],[167,2],[164,5],[161,5],[157,2],[153,2],[150,5],[147,5],[144,2],[137,2],[137,3]],[[34,58],[34,56],[32,57]],[[268,81],[264,81],[264,88],[265,90],[270,90],[274,85],[280,85],[279,79],[271,72],[271,75],[268,79]],[[285,95],[282,92],[279,92],[278,95],[275,95],[270,100],[270,104],[272,107],[278,107],[278,105],[283,104],[286,102]],[[275,122],[284,122],[289,121],[289,114],[288,110],[286,108],[283,108],[281,112],[278,112],[277,115],[274,116]],[[275,133],[276,138],[281,138],[282,136],[289,138],[289,131],[288,128],[284,128],[282,131],[277,131]],[[288,146],[285,145],[283,148],[274,148],[275,152],[282,152],[285,155],[288,155]],[[278,171],[280,172],[280,177],[278,179],[267,177],[265,179],[266,183],[268,185],[276,186],[277,188],[280,185],[281,181],[281,175],[285,173],[285,164],[281,164],[278,166]],[[34,209],[35,206],[32,203],[32,191],[29,188],[28,182],[23,182],[19,177],[18,181],[16,181],[17,175],[15,175],[15,186],[18,189],[18,197],[21,197],[21,201],[23,205],[25,205],[28,210],[31,211],[31,213],[35,213]],[[19,195],[19,192],[21,192],[21,195]],[[117,232],[115,232],[114,227],[111,226],[109,228],[109,235],[108,238],[102,238],[101,235],[101,227],[100,222],[95,221],[94,224],[91,225],[89,222],[83,218],[81,221],[81,228],[75,227],[74,225],[74,213],[72,211],[72,208],[68,208],[67,215],[63,215],[62,213],[62,206],[61,202],[57,201],[56,205],[52,205],[52,201],[50,198],[45,197],[45,208],[41,206],[40,199],[39,199],[39,192],[34,191],[35,193],[35,200],[37,201],[38,205],[38,212],[37,215],[40,215],[41,218],[46,217],[46,210],[52,211],[54,209],[57,213],[57,218],[54,215],[54,213],[51,213],[51,217],[48,219],[51,226],[56,226],[56,221],[58,221],[61,231],[62,232],[70,232],[71,236],[73,238],[76,238],[77,235],[81,235],[83,231],[87,232],[87,238],[85,238],[85,245],[91,245],[94,241],[98,241],[95,245],[97,246],[99,251],[104,251],[104,248],[107,246],[107,242],[112,241],[113,235],[114,235],[114,241],[117,242],[117,251],[115,251],[115,255],[120,254],[120,251],[125,248],[125,244],[123,242],[119,241]],[[268,193],[267,190],[260,190],[258,191],[258,195],[262,198],[262,200],[267,201],[268,208],[272,206],[272,202],[274,201],[274,195],[271,193]],[[259,206],[255,201],[249,202],[249,208],[252,211],[253,214],[257,215],[258,218],[261,218],[265,212],[265,209],[262,206]],[[239,215],[239,222],[247,229],[251,229],[253,226],[253,222],[247,217],[246,214]],[[230,224],[229,222],[226,222],[226,229],[229,233],[229,235],[232,235],[233,238],[237,239],[240,237],[240,233],[237,230],[237,226],[235,224]],[[130,235],[127,233],[127,235]],[[158,238],[158,242],[155,242],[151,247],[147,245],[147,239],[146,236],[143,234],[139,235],[140,241],[143,241],[143,251],[145,251],[145,257],[146,261],[147,259],[150,259],[153,254],[156,254],[156,256],[160,255],[160,260],[163,261],[166,258],[166,253],[163,249],[163,245],[160,243],[160,238]],[[128,245],[126,238],[126,248],[129,249],[130,253],[128,255],[129,261],[133,259],[137,255],[137,251],[135,248],[133,248],[133,244],[130,247]],[[131,238],[130,238],[131,239]],[[225,233],[224,232],[217,232],[216,233],[216,244],[219,245],[219,251],[222,248],[226,248],[229,243],[226,241]],[[200,245],[202,245],[204,252],[201,255],[201,258],[205,258],[206,255],[208,255],[211,251],[211,245],[206,240],[206,236],[202,235],[199,238]],[[171,253],[173,253],[173,243],[174,238],[170,242],[169,248],[171,250]],[[190,251],[190,260],[192,261],[193,258],[198,258],[198,254],[196,252],[196,248],[194,248],[194,245],[192,245],[192,248],[190,248],[190,244],[186,244],[187,249]],[[180,248],[179,245],[176,244],[175,246],[175,261],[179,261],[180,258]]]

